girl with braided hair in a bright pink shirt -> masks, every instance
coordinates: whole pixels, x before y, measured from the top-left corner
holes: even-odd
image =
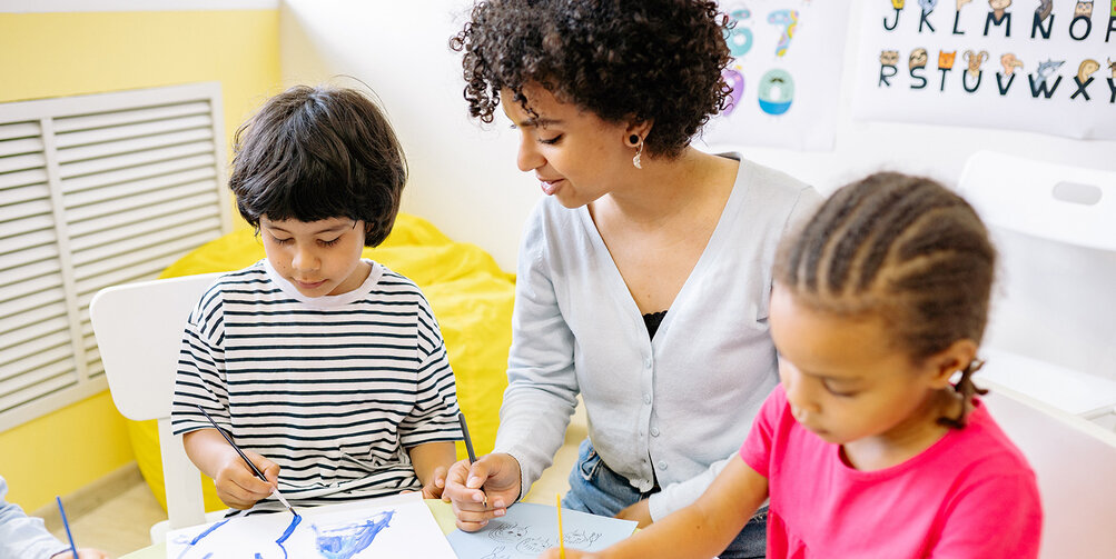
[[[1035,474],[971,378],[993,266],[972,208],[932,181],[839,190],[780,252],[781,385],[739,457],[594,557],[710,557],[769,497],[770,557],[1037,557]]]

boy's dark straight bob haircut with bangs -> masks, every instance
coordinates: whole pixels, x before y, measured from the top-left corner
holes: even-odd
[[[229,187],[240,214],[365,222],[376,247],[400,211],[407,164],[384,113],[355,89],[295,86],[263,104],[233,139]]]

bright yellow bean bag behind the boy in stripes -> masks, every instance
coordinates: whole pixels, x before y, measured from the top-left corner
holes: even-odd
[[[453,242],[430,222],[401,213],[383,244],[364,256],[414,280],[430,300],[442,327],[450,365],[458,380],[458,401],[469,418],[477,453],[492,451],[500,402],[508,385],[511,306],[514,277],[479,247]],[[243,229],[209,242],[171,264],[161,278],[240,270],[263,258],[263,245]],[[158,432],[154,421],[129,422],[136,462],[158,502],[166,508]],[[458,443],[458,457],[465,456]],[[202,476],[205,510],[227,508],[213,482]]]

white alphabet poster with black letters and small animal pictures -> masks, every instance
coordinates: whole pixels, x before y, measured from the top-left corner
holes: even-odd
[[[1116,139],[1116,0],[865,0],[854,115]]]

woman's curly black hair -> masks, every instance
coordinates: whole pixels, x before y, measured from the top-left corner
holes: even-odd
[[[484,0],[450,48],[484,123],[503,88],[532,114],[522,88],[537,81],[605,121],[652,121],[646,153],[676,157],[725,106],[729,25],[712,1]]]

